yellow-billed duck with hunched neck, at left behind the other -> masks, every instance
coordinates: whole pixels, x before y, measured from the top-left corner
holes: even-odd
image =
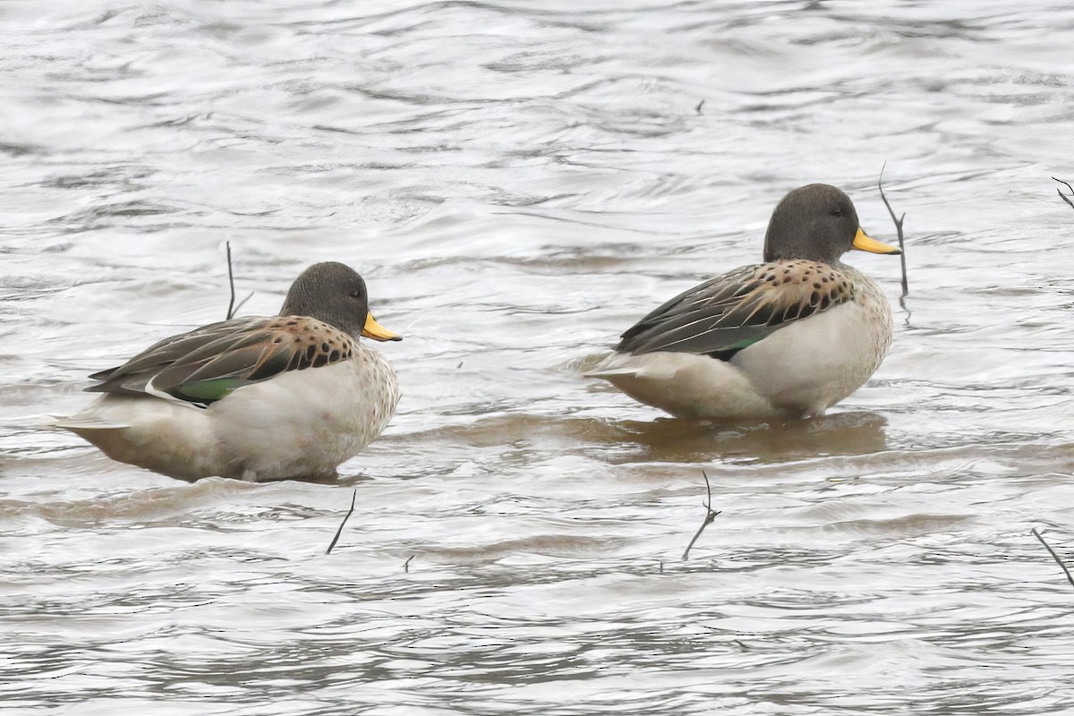
[[[62,419],[108,457],[180,480],[338,477],[375,440],[398,378],[360,342],[401,340],[373,318],[350,266],[316,263],[273,317],[236,318],[164,338],[90,376],[102,393]]]

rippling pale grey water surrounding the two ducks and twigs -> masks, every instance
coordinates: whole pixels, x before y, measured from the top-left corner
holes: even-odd
[[[1029,532],[1074,561],[1070,3],[8,2],[0,41],[5,713],[1074,713]],[[909,310],[831,415],[578,377],[795,186],[892,237],[884,162]],[[339,484],[40,427],[219,320],[228,239],[243,313],[335,259],[406,335]]]

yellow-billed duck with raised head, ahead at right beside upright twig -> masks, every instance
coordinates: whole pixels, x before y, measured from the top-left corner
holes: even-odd
[[[861,229],[840,189],[794,189],[772,211],[764,263],[671,298],[623,333],[585,376],[676,418],[824,415],[868,380],[891,344],[888,299],[841,261],[851,249],[901,253]]]

